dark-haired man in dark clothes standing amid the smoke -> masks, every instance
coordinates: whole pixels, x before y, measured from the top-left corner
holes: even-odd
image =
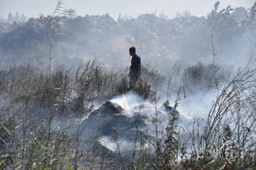
[[[139,81],[141,77],[141,58],[136,54],[135,47],[131,47],[129,49],[129,54],[132,56],[131,60],[131,66],[130,66],[130,82],[129,86],[130,89],[134,89],[134,87],[137,85],[137,82]]]

